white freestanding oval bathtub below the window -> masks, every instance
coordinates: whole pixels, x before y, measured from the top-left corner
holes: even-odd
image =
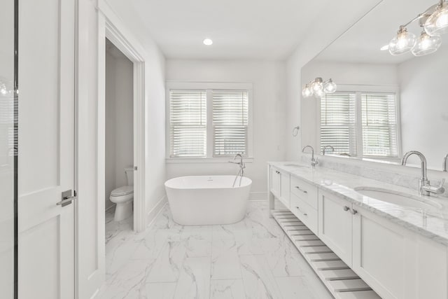
[[[181,225],[230,224],[240,221],[252,181],[235,176],[181,176],[165,182],[173,219]]]

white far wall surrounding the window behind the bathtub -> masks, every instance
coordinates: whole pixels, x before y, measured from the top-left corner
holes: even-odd
[[[168,60],[167,81],[253,83],[253,163],[245,175],[253,180],[252,199],[265,199],[266,162],[283,160],[286,148],[285,64],[248,60]],[[230,159],[229,159],[230,160]],[[168,163],[167,177],[237,174],[237,167],[223,163]]]

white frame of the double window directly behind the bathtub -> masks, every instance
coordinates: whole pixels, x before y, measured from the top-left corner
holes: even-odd
[[[170,157],[171,135],[170,120],[170,90],[206,90],[207,106],[207,156],[206,157]],[[167,81],[165,89],[165,160],[167,163],[177,162],[228,162],[229,156],[214,157],[214,127],[213,127],[213,90],[246,90],[248,92],[248,124],[247,124],[247,154],[245,162],[253,162],[253,84],[237,82],[185,82]]]

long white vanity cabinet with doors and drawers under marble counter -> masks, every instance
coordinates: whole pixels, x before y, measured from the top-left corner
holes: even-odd
[[[278,198],[381,298],[448,298],[448,246],[272,165],[268,176],[270,209]]]

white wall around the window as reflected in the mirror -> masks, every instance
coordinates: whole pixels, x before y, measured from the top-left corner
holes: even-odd
[[[388,85],[397,86],[398,68],[395,64],[363,64],[346,62],[311,61],[302,67],[302,84],[322,77],[323,80],[332,80],[342,90],[342,85]],[[303,146],[311,145],[316,150],[318,144],[318,120],[320,118],[320,101],[316,97],[301,99]],[[317,150],[316,150],[317,151]]]

